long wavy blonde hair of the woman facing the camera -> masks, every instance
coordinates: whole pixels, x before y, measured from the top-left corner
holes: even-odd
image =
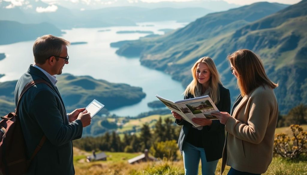
[[[208,66],[210,73],[211,73],[211,78],[208,83],[208,88],[210,90],[210,97],[212,101],[216,104],[220,101],[220,89],[219,89],[219,84],[221,83],[220,80],[220,75],[218,71],[216,70],[216,66],[213,62],[213,60],[210,57],[202,57],[199,60],[196,61],[194,66],[191,68],[193,80],[192,82],[187,86],[185,89],[184,95],[187,96],[188,93],[191,93],[194,97],[196,96],[196,86],[199,85],[200,83],[198,82],[196,78],[196,68],[199,63],[204,63]]]

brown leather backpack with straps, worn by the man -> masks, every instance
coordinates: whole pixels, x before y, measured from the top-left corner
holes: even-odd
[[[0,121],[0,174],[25,174],[28,171],[31,160],[41,149],[42,145],[46,140],[46,136],[44,135],[41,138],[41,141],[37,145],[36,149],[34,150],[34,153],[32,154],[31,158],[27,158],[25,139],[18,117],[19,100],[30,87],[39,83],[45,83],[50,88],[52,88],[50,83],[46,82],[43,79],[29,82],[19,96],[16,111],[10,112],[8,115],[1,117],[2,120]]]

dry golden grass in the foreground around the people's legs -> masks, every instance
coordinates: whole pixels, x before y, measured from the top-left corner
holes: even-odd
[[[135,121],[136,122],[136,121]],[[307,125],[302,125],[307,130]],[[277,128],[275,133],[290,134],[290,127]],[[182,156],[179,150],[179,161],[160,160],[159,162],[142,162],[130,165],[128,159],[134,158],[142,153],[123,153],[123,152],[105,152],[107,161],[86,162],[86,156],[91,152],[85,152],[74,147],[74,165],[76,175],[184,175],[184,166]],[[216,175],[220,174],[221,159],[216,168]],[[226,175],[229,166],[223,175]],[[307,175],[307,158],[301,161],[290,161],[280,157],[274,157],[268,170],[263,175]],[[199,175],[201,175],[201,166],[199,166]]]

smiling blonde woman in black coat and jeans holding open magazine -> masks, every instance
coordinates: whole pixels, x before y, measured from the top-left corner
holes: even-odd
[[[193,80],[185,89],[185,99],[209,95],[220,111],[230,112],[230,93],[224,88],[218,71],[210,57],[200,58],[191,69]],[[185,174],[197,175],[201,159],[202,175],[214,175],[218,160],[222,157],[225,142],[224,125],[219,120],[194,118],[201,125],[194,127],[173,112],[178,125],[183,125],[178,146],[183,154]]]

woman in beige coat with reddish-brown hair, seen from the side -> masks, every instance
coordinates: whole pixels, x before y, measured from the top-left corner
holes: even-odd
[[[267,77],[261,59],[250,50],[235,51],[228,60],[241,94],[231,115],[227,112],[212,113],[225,124],[227,131],[221,174],[225,164],[231,166],[228,175],[265,173],[273,158],[278,117],[273,89],[278,84]]]

